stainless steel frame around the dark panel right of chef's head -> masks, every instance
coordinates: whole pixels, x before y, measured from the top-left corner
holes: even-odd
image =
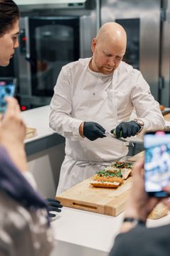
[[[159,97],[160,6],[159,0],[101,0],[102,24],[118,18],[140,19],[139,68],[156,100]]]

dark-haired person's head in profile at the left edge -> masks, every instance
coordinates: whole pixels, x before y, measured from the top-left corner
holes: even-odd
[[[19,10],[12,0],[0,0],[0,65],[6,66],[18,48]]]

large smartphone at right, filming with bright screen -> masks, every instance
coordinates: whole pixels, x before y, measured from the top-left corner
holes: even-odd
[[[162,188],[170,184],[170,131],[146,132],[144,148],[145,191],[149,196],[169,196]]]

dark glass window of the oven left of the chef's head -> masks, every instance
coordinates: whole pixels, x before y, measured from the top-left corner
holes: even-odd
[[[37,90],[49,92],[63,65],[74,61],[74,29],[47,25],[35,28]]]

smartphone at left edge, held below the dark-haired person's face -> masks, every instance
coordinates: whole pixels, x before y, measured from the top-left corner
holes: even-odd
[[[0,112],[6,111],[6,100],[8,96],[13,97],[16,90],[16,78],[0,78]]]

